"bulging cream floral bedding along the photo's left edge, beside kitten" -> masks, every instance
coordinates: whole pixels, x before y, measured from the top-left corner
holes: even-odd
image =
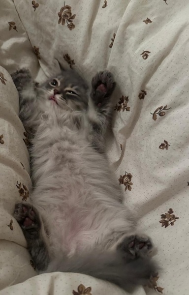
[[[0,289],[36,274],[14,206],[28,201],[31,186],[25,129],[18,117],[18,92],[8,72],[0,67]]]

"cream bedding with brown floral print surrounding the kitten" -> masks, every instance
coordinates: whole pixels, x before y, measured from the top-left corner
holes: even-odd
[[[187,295],[189,277],[189,1],[6,0],[0,3],[0,295],[126,294],[93,277],[36,275],[13,218],[30,198],[28,139],[10,73],[36,81],[65,67],[90,83],[112,71],[112,169],[162,268],[135,295]]]

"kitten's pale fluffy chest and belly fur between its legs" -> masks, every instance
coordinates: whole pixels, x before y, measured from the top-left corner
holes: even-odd
[[[41,121],[35,136],[31,200],[55,256],[94,245],[109,248],[133,229],[108,161],[89,145],[84,133],[82,137],[81,131],[70,130],[51,115]]]

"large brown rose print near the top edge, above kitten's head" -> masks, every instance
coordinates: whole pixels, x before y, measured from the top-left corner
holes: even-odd
[[[72,15],[71,12],[71,6],[65,5],[61,8],[60,12],[58,12],[59,21],[58,24],[65,25],[65,22],[67,24],[68,29],[72,30],[75,28],[75,25],[73,24],[73,20],[76,17],[76,14]]]

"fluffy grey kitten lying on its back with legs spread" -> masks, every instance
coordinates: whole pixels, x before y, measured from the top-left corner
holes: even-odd
[[[36,268],[92,275],[126,291],[147,284],[157,270],[152,242],[136,234],[105,155],[112,74],[97,73],[91,94],[73,70],[40,86],[26,69],[12,78],[32,140],[33,182],[32,204],[17,204],[14,217]]]

